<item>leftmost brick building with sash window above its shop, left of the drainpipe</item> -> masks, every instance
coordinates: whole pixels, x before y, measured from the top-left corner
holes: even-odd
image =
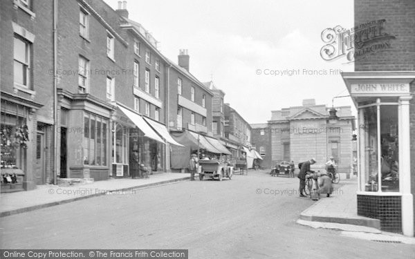
[[[1,191],[30,190],[53,181],[53,1],[1,1],[0,17],[1,175],[17,175]]]

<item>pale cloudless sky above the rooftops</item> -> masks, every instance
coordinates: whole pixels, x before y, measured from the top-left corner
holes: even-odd
[[[212,79],[250,124],[303,99],[331,106],[333,97],[349,95],[340,71],[353,71],[353,63],[325,61],[320,50],[323,30],[353,27],[353,0],[129,0],[127,10],[167,58],[177,62],[187,49],[190,73]],[[350,97],[334,106],[351,106],[356,115]]]

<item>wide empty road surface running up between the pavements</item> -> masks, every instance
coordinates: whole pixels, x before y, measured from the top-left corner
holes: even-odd
[[[415,247],[296,224],[313,204],[265,171],[102,195],[0,218],[2,249],[189,249],[189,258],[414,258]]]

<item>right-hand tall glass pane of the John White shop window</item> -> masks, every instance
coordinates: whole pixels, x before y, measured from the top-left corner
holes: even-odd
[[[399,191],[398,106],[380,106],[382,191]]]

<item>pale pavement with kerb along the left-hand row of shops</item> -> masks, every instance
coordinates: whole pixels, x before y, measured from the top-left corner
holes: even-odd
[[[53,184],[37,186],[31,191],[1,193],[0,217],[34,211],[46,207],[74,202],[99,195],[128,194],[134,189],[149,188],[190,180],[187,173],[157,173],[145,179],[110,179],[74,186],[57,186]]]

